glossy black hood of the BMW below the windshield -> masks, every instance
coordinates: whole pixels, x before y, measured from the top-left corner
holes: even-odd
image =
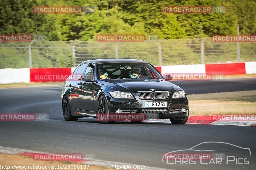
[[[113,79],[113,80],[100,80],[100,84],[107,85],[123,92],[138,92],[138,91],[179,91],[177,85],[162,79]]]

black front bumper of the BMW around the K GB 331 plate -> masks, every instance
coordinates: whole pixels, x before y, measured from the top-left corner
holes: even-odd
[[[109,113],[116,114],[116,110],[120,109],[119,114],[143,114],[144,119],[169,119],[169,118],[185,118],[189,115],[188,98],[165,100],[140,100],[135,99],[115,99],[106,93],[108,99]],[[166,108],[142,108],[143,101],[167,101],[169,107]],[[187,112],[181,112],[181,108],[186,108]]]

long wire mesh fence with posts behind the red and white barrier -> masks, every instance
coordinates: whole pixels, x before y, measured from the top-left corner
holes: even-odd
[[[0,41],[0,69],[74,67],[90,59],[130,58],[153,65],[256,61],[256,43],[212,42],[211,38],[98,41]],[[240,53],[240,58],[238,57]]]

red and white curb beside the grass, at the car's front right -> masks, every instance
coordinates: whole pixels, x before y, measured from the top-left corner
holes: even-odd
[[[142,122],[171,123],[169,119],[149,119]],[[212,116],[189,116],[188,124],[212,124],[212,125],[237,125],[237,126],[256,126],[256,121],[227,121],[223,119],[212,120]]]

